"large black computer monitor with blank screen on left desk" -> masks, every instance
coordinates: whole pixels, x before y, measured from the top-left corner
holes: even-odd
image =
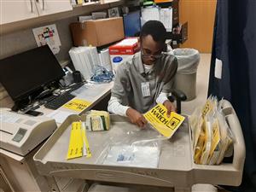
[[[15,102],[64,75],[48,45],[0,60],[0,82]]]

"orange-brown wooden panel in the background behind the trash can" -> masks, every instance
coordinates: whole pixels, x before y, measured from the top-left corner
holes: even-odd
[[[180,22],[188,21],[188,40],[183,48],[198,49],[201,53],[212,52],[213,25],[216,0],[180,0]]]

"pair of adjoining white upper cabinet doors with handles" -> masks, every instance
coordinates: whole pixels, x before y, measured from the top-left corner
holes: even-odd
[[[0,24],[72,9],[70,0],[0,0]]]

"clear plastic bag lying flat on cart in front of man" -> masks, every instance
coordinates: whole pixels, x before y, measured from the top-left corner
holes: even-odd
[[[161,141],[166,140],[157,131],[120,127],[109,137],[97,163],[113,166],[137,166],[157,168],[160,158]]]

